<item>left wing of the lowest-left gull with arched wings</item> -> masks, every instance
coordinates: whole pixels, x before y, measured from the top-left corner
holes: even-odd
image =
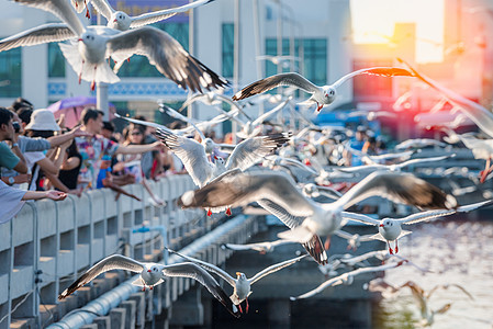
[[[91,282],[99,274],[111,270],[127,270],[136,273],[141,273],[145,269],[145,265],[136,260],[122,254],[113,254],[98,262],[90,268],[85,274],[82,274],[76,282],[74,282],[68,288],[66,288],[58,299],[64,299],[85,284]]]

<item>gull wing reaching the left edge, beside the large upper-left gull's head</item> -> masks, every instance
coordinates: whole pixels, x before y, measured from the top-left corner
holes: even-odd
[[[0,52],[16,47],[63,42],[75,36],[74,31],[65,23],[43,24],[1,39]]]

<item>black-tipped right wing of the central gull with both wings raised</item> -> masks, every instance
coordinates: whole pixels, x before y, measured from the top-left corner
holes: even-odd
[[[231,154],[226,162],[226,169],[239,168],[245,171],[259,159],[288,143],[290,137],[290,133],[281,133],[245,139]]]

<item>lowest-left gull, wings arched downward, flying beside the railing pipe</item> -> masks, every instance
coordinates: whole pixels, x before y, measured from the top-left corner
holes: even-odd
[[[82,274],[76,282],[66,288],[58,299],[64,299],[85,284],[91,282],[101,273],[111,270],[125,270],[134,273],[141,273],[141,277],[133,282],[133,284],[143,286],[144,290],[148,286],[150,290],[165,281],[167,276],[190,277],[200,282],[208,291],[226,307],[226,309],[238,317],[238,309],[221,288],[219,283],[202,268],[194,263],[177,263],[171,265],[164,265],[158,263],[142,263],[121,254],[113,254],[98,262]]]

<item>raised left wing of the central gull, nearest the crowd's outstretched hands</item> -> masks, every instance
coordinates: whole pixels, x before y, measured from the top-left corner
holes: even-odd
[[[156,136],[180,158],[195,185],[203,186],[214,174],[214,167],[208,160],[204,147],[194,139],[157,129]]]

